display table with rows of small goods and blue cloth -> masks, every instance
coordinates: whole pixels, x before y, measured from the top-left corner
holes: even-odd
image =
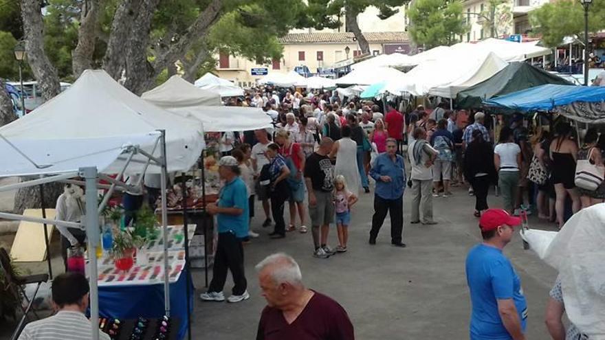
[[[188,225],[189,234],[195,225]],[[168,227],[168,273],[170,279],[170,317],[181,322],[174,329],[175,339],[183,339],[188,328],[187,282],[195,291],[190,273],[185,267],[184,233],[182,225]],[[163,235],[150,242],[143,253],[146,264],[135,264],[129,271],[118,271],[113,261],[102,257],[98,261],[99,315],[117,319],[137,317],[158,318],[164,310],[164,251]],[[139,253],[137,256],[141,256]],[[190,307],[193,306],[193,294]]]

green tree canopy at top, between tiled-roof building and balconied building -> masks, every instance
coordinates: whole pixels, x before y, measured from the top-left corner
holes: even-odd
[[[426,49],[452,45],[469,30],[461,1],[416,0],[408,10],[412,41]]]

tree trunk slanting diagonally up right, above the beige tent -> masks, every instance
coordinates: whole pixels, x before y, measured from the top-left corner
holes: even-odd
[[[219,14],[221,14],[222,9],[223,0],[212,0],[208,4],[208,7],[197,16],[195,22],[188,27],[179,40],[172,43],[166,51],[157,56],[153,63],[153,68],[155,69],[154,78],[168,67],[168,63],[184,56],[194,43],[199,41],[201,37],[206,36],[210,27],[219,20]]]

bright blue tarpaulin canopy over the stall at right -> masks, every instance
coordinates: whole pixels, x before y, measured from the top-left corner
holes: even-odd
[[[605,87],[545,84],[485,100],[484,103],[517,111],[555,111],[560,106],[603,101]]]

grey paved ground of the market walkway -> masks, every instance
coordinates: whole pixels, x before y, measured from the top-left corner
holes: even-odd
[[[252,297],[240,304],[203,303],[196,297],[192,339],[254,339],[265,306],[254,264],[276,251],[285,251],[298,260],[307,286],[344,306],[357,339],[468,339],[470,302],[464,259],[467,250],[481,238],[477,220],[472,216],[474,198],[459,189],[449,199],[434,199],[439,224],[421,226],[409,224],[410,198],[406,196],[404,242],[408,247],[397,249],[390,246],[388,220],[377,245],[367,244],[372,197],[362,194],[355,207],[349,252],[328,260],[311,256],[310,234],[289,233],[283,240],[269,240],[266,234],[270,230],[259,226],[261,238],[245,246],[248,291]],[[498,206],[500,199],[492,195],[489,203]],[[256,216],[261,215],[257,211]],[[261,218],[254,220],[255,225],[261,222]],[[553,229],[552,225],[537,225],[536,219],[530,223],[532,227]],[[10,243],[10,237],[0,238],[0,242],[3,240]],[[331,232],[330,244],[336,246],[336,232]],[[505,254],[512,259],[528,300],[528,339],[549,339],[542,319],[555,271],[531,251],[524,251],[518,236]],[[44,264],[33,267],[34,272],[45,270]],[[205,291],[203,271],[195,271],[193,280],[196,294]],[[231,285],[229,279],[226,295],[230,294]],[[10,328],[0,325],[0,339],[8,339]]]

